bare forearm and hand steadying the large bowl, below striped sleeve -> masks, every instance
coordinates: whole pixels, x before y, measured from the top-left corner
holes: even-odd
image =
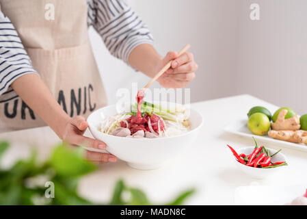
[[[103,150],[106,148],[104,142],[83,136],[88,128],[88,123],[82,116],[70,118],[55,101],[49,88],[38,75],[23,75],[12,83],[12,88],[62,140],[69,144],[82,145],[92,149]],[[97,164],[116,162],[116,157],[109,153],[86,151],[85,155],[90,161]]]

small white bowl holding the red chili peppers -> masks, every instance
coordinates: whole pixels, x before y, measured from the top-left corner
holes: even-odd
[[[238,149],[236,151],[238,154],[243,153],[245,155],[249,155],[254,151],[254,148],[255,146],[248,146],[242,149]],[[273,155],[274,153],[277,152],[276,150],[269,149],[267,147],[265,147],[265,149],[269,150],[270,155]],[[284,154],[279,152],[278,154],[272,157],[272,162],[286,162],[286,157],[284,156]],[[276,172],[279,172],[280,170],[284,170],[284,168],[286,168],[286,166],[278,166],[276,168],[254,168],[251,166],[245,166],[244,164],[237,162],[236,159],[235,159],[235,164],[237,168],[245,172],[245,174],[256,179],[265,179],[267,177],[271,177],[272,175],[275,175]]]

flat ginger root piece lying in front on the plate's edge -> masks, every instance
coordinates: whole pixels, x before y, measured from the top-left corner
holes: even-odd
[[[269,137],[293,143],[307,144],[307,131],[276,131],[270,130]]]

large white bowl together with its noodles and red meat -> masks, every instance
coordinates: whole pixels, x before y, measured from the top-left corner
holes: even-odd
[[[203,123],[196,110],[178,104],[143,103],[143,120],[137,125],[133,123],[135,105],[129,110],[118,112],[116,105],[103,107],[90,114],[88,124],[94,138],[107,144],[107,152],[139,170],[159,168],[189,149]],[[124,136],[116,136],[118,133]]]

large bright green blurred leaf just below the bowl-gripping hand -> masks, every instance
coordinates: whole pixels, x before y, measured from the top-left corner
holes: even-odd
[[[68,149],[66,144],[57,146],[50,160],[59,176],[79,177],[96,170],[96,166],[85,160],[80,150]]]

